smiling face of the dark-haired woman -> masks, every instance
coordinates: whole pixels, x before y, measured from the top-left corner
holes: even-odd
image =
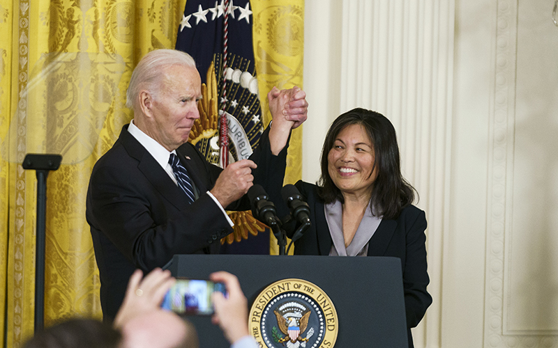
[[[361,125],[341,129],[327,160],[329,176],[343,196],[368,196],[370,199],[378,175],[374,157],[372,141]]]

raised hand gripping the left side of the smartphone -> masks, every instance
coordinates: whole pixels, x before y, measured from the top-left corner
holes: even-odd
[[[165,294],[175,281],[170,271],[160,268],[153,269],[143,279],[142,276],[142,271],[136,269],[130,277],[126,296],[114,318],[114,327],[121,328],[135,317],[160,310]]]

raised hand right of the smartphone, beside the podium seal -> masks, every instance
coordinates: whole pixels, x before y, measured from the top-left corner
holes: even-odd
[[[218,324],[231,345],[248,335],[248,301],[236,276],[225,272],[215,272],[209,276],[216,283],[224,283],[227,298],[220,292],[213,292],[215,314],[211,317],[213,324]]]

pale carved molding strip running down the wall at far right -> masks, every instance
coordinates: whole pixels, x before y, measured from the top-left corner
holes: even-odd
[[[506,253],[510,251],[515,134],[518,0],[498,0],[493,50],[486,226],[484,347],[558,347],[552,331],[506,329]]]

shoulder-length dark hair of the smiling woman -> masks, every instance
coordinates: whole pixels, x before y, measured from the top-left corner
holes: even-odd
[[[384,115],[375,111],[352,109],[336,118],[329,127],[322,148],[322,176],[317,182],[320,198],[324,203],[333,203],[335,200],[343,203],[340,189],[329,176],[327,157],[339,132],[349,125],[361,125],[374,148],[374,166],[378,168],[378,175],[370,198],[372,214],[383,215],[385,219],[397,218],[401,209],[413,203],[416,190],[401,175],[395,128]],[[373,172],[372,168],[370,175]]]

